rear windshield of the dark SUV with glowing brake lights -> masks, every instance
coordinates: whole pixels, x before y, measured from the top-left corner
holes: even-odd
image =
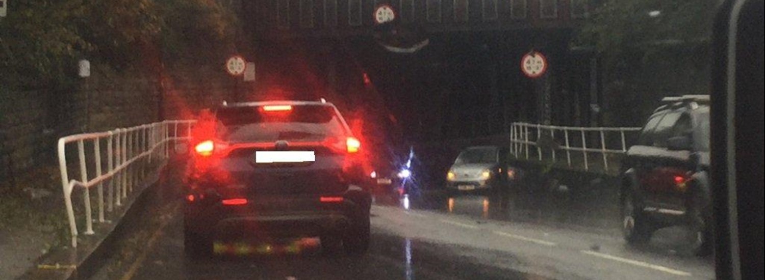
[[[285,111],[255,106],[220,108],[216,119],[218,137],[232,143],[318,141],[345,134],[340,117],[326,105],[292,105]]]

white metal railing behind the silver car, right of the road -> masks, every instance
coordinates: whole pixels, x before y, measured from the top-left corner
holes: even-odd
[[[566,162],[571,163],[571,152],[581,152],[582,166],[589,170],[591,163],[588,161],[588,153],[600,153],[603,156],[603,170],[608,170],[608,154],[627,153],[627,137],[633,137],[640,131],[640,127],[559,127],[554,125],[513,123],[510,129],[510,150],[516,158],[530,159],[536,157],[540,161],[545,157],[545,150],[549,150],[549,159],[557,162],[557,150],[565,151]],[[617,135],[612,135],[617,134]],[[629,135],[627,135],[629,134]],[[544,147],[539,143],[546,137],[551,141],[552,147]],[[591,143],[588,145],[588,140]],[[597,141],[593,141],[597,140]],[[609,147],[609,143],[617,142]],[[592,143],[595,142],[595,143]],[[529,146],[535,146],[532,156]],[[617,147],[613,147],[617,146]]]

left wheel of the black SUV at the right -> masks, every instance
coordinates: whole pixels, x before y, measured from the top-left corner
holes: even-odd
[[[621,203],[622,233],[630,245],[647,243],[653,233],[640,205],[631,192],[626,193]]]

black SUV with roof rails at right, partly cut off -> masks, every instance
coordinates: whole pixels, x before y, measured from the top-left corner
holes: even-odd
[[[627,243],[688,226],[692,253],[711,253],[709,96],[664,98],[623,162],[620,205]]]

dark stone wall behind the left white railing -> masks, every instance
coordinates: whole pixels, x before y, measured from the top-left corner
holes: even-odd
[[[59,137],[192,118],[234,96],[233,78],[222,69],[168,69],[161,86],[156,74],[91,67],[91,76],[73,85],[0,89],[0,181],[15,185],[29,169],[55,165]],[[247,86],[239,82],[240,91]]]

